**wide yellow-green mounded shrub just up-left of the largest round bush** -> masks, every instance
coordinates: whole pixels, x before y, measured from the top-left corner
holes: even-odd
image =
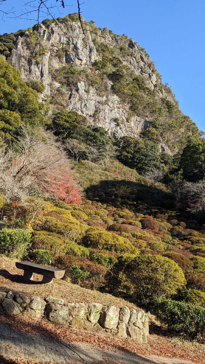
[[[134,246],[128,239],[93,227],[86,230],[80,244],[87,248],[110,250],[116,253],[134,250]]]

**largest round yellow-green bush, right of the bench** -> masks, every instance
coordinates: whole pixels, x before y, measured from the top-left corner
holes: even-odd
[[[184,273],[178,264],[154,254],[133,258],[123,273],[133,285],[133,296],[144,302],[170,297],[186,284]]]

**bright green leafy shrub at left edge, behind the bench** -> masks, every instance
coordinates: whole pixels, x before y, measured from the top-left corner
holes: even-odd
[[[0,252],[12,259],[20,259],[25,256],[30,241],[28,230],[4,228],[0,231]]]

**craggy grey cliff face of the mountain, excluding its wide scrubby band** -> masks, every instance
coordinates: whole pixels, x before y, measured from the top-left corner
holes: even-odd
[[[101,85],[95,87],[84,78],[72,85],[66,84],[64,76],[56,77],[58,71],[66,66],[74,66],[86,69],[89,77],[95,77],[92,64],[101,58],[96,49],[97,40],[98,44],[121,48],[118,57],[123,64],[127,64],[136,75],[143,76],[146,87],[155,92],[158,98],[175,102],[173,95],[166,93],[153,62],[135,41],[126,36],[113,35],[106,29],[102,31],[90,23],[87,23],[87,28],[92,31],[87,31],[84,37],[80,24],[72,17],[67,17],[66,22],[60,24],[40,24],[38,41],[35,39],[36,31],[29,28],[23,37],[18,37],[8,62],[20,70],[23,80],[42,80],[45,91],[40,98],[46,100],[46,95],[51,96],[52,111],[62,108],[77,111],[87,116],[90,124],[104,127],[114,138],[124,135],[138,137],[142,130],[150,126],[151,119],[130,115],[130,105],[114,94],[108,79],[103,85],[103,93],[100,91]],[[161,146],[163,149],[163,142]]]

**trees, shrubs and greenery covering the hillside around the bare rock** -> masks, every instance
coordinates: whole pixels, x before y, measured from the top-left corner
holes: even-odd
[[[68,30],[78,23],[75,14],[58,21]],[[52,21],[43,26],[49,31]],[[69,284],[143,306],[170,334],[204,343],[204,139],[167,86],[149,87],[130,68],[130,39],[93,22],[88,27],[98,59],[90,69],[65,65],[70,48],[57,45],[62,66],[52,70],[53,78],[67,90],[90,80],[103,94],[111,82],[109,92],[129,105],[131,117],[152,115],[152,123],[141,138],[112,138],[80,110],[60,107],[60,86],[40,102],[43,81],[25,83],[1,56],[0,253],[63,268]],[[36,31],[29,28],[25,36],[40,64],[46,51],[38,53]],[[9,35],[2,44],[5,39]],[[7,48],[6,56],[13,46]],[[162,151],[161,137],[177,153]]]

